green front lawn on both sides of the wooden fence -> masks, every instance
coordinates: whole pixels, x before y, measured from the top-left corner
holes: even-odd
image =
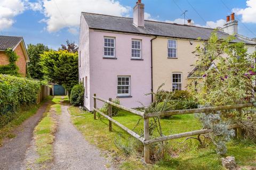
[[[179,144],[178,142],[182,142],[184,138],[165,142],[168,146],[166,147],[168,154],[154,164],[145,165],[142,162],[142,152],[134,152],[134,149],[143,149],[141,143],[121,128],[113,125],[113,132],[109,132],[106,118],[93,120],[93,114],[81,111],[77,107],[70,107],[69,112],[74,125],[84,134],[84,137],[98,148],[111,153],[111,157],[121,169],[223,169],[221,156],[216,154],[214,146],[202,147],[194,139]],[[133,129],[140,117],[122,111],[114,119],[127,128]],[[161,125],[164,135],[201,129],[201,124],[192,114],[161,119]],[[134,131],[142,134],[142,128],[143,120],[139,122]],[[229,142],[227,156],[235,156],[239,166],[256,166],[256,146],[249,141]]]

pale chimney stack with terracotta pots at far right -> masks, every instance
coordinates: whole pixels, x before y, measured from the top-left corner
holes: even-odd
[[[224,24],[223,30],[229,35],[236,35],[238,33],[238,21],[235,20],[235,13],[227,16],[227,22]]]

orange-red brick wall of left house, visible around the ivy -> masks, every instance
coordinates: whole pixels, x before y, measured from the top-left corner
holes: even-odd
[[[20,44],[14,49],[14,52],[19,56],[16,62],[16,65],[19,67],[19,73],[22,77],[26,77],[26,57]],[[7,64],[9,64],[9,58],[6,56],[5,52],[0,52],[0,65]]]

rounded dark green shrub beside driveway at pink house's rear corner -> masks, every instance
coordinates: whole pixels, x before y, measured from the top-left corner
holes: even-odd
[[[79,83],[72,88],[70,93],[70,103],[74,106],[83,106],[84,87],[82,83]]]

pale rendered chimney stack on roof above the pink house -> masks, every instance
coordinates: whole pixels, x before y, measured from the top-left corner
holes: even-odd
[[[141,3],[141,0],[138,0],[136,5],[133,7],[133,24],[136,27],[145,27],[144,6],[145,5]]]

